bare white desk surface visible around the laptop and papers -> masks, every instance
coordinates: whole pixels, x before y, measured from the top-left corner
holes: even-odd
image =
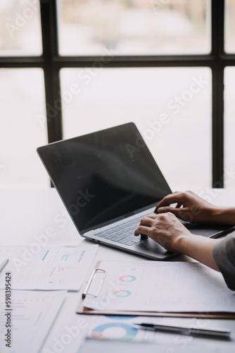
[[[208,190],[205,191],[204,195],[205,194],[207,194],[210,200],[216,205],[235,204],[235,190]],[[64,205],[55,189],[1,189],[0,215],[1,246],[30,245],[32,241],[34,241],[34,234],[43,234],[48,227],[53,227],[56,230],[56,237],[50,239],[49,244],[51,246],[91,244],[89,241],[79,236],[70,218],[66,217]],[[135,256],[134,254],[122,252],[118,249],[100,245],[94,264],[98,260],[144,261],[145,259],[140,256]],[[186,256],[177,256],[177,258],[172,261],[191,261],[191,259]],[[90,268],[89,273],[91,273],[91,270],[92,268]],[[63,334],[67,332],[66,328],[77,323],[79,316],[75,314],[75,310],[80,301],[80,295],[80,293],[71,292],[67,294],[63,307],[44,344],[44,349],[42,349],[43,353],[56,353],[55,350],[51,349],[51,343],[60,342]],[[84,320],[87,320],[89,323],[91,318],[87,319],[87,317],[85,317]],[[182,352],[182,349],[186,349],[185,352],[189,352],[190,349],[196,349],[196,347],[198,351],[202,349],[203,352],[215,352],[215,347],[217,347],[216,352],[235,352],[235,321],[210,320],[209,323],[210,326],[231,328],[231,341],[222,342],[221,340],[179,337],[167,334],[166,337],[170,337],[172,344],[169,344],[169,337],[166,338],[165,343],[161,342],[163,352]],[[73,337],[72,342],[68,345],[61,345],[60,348],[59,345],[56,346],[57,352],[76,352],[77,342],[79,342],[79,337]]]

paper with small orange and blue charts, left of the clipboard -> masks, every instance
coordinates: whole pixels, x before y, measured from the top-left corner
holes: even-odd
[[[0,289],[4,275],[13,276],[12,289],[79,290],[94,261],[98,245],[42,247],[32,253],[32,247],[4,246],[0,256],[9,258],[0,273]]]

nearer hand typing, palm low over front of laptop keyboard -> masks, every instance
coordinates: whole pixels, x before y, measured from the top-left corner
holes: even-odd
[[[172,253],[182,252],[182,240],[192,234],[172,213],[148,215],[141,219],[134,235],[144,234]]]

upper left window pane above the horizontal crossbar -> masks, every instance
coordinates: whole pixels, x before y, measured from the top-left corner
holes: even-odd
[[[0,1],[0,55],[41,55],[39,0]]]

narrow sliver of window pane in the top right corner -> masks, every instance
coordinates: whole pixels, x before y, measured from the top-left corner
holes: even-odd
[[[224,49],[227,53],[235,52],[235,1],[225,1],[225,42]]]

